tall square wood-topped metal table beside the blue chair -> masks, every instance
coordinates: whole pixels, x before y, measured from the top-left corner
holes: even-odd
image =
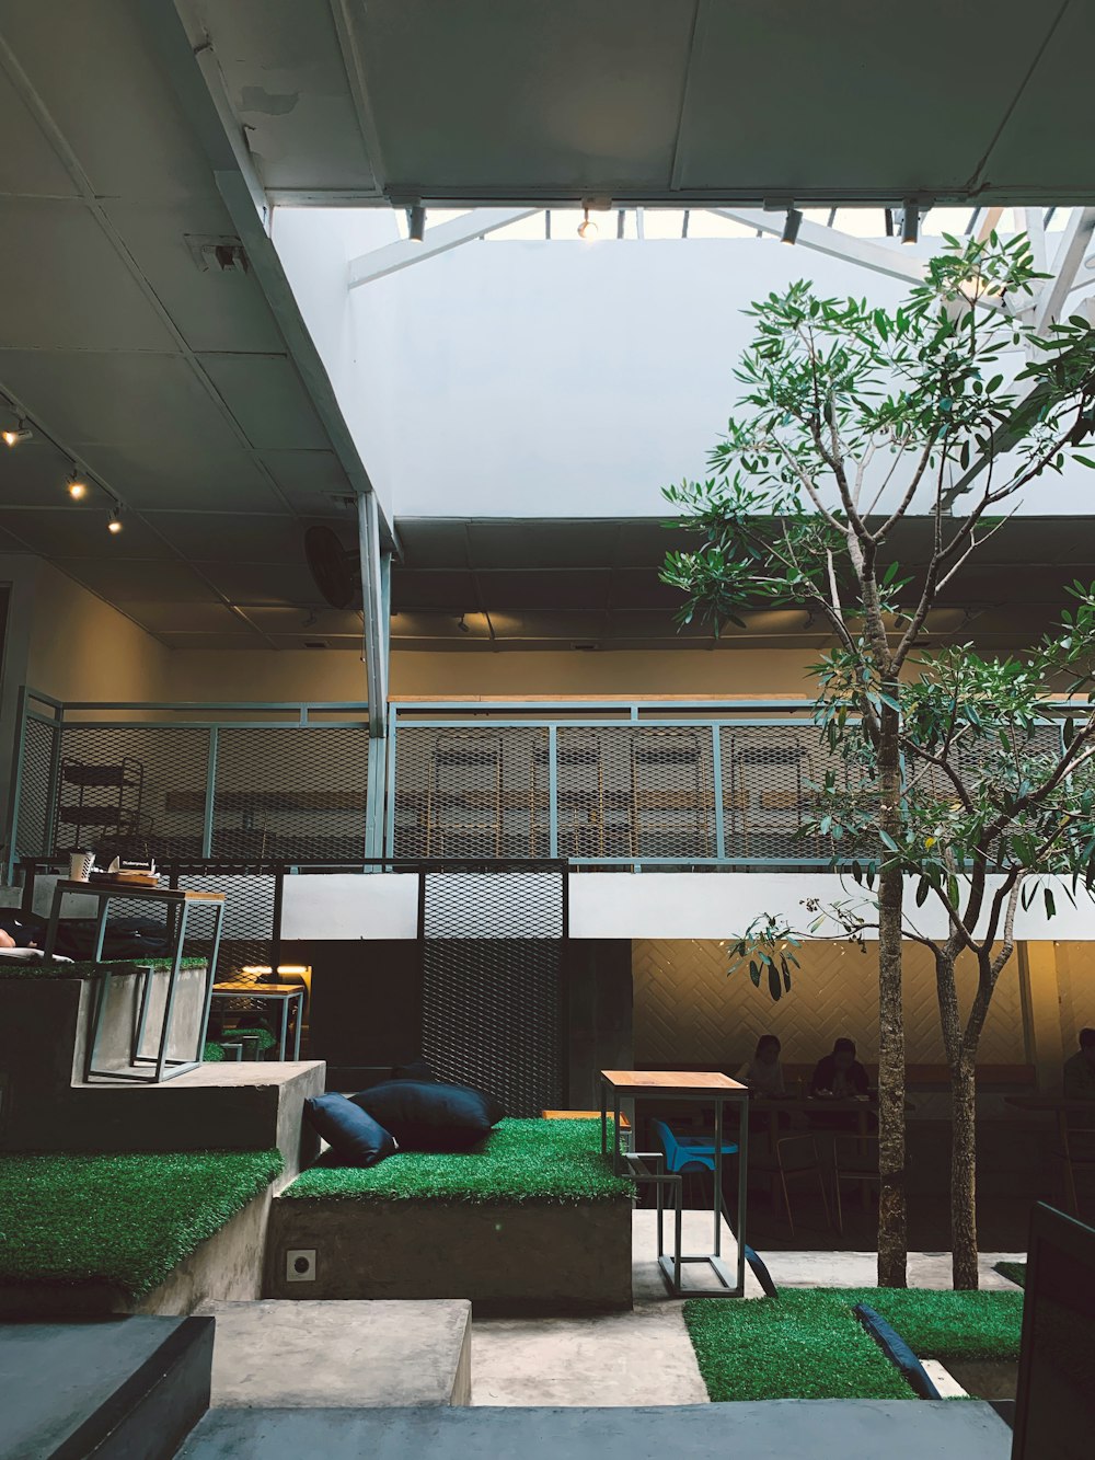
[[[712,1143],[714,1159],[714,1237],[710,1253],[683,1254],[680,1251],[680,1177],[656,1172],[650,1175],[642,1167],[644,1158],[638,1152],[625,1156],[620,1149],[620,1101],[628,1098],[661,1098],[666,1101],[701,1101],[714,1105],[715,1134]],[[600,1072],[600,1149],[609,1153],[607,1107],[612,1098],[613,1114],[613,1145],[612,1168],[620,1174],[625,1168],[629,1175],[639,1181],[656,1181],[658,1190],[658,1267],[675,1296],[683,1296],[680,1286],[682,1263],[704,1263],[723,1285],[717,1292],[704,1289],[689,1289],[692,1298],[740,1298],[745,1295],[745,1207],[746,1181],[749,1174],[749,1091],[737,1080],[714,1070],[602,1070]],[[737,1104],[737,1221],[734,1237],[737,1240],[737,1261],[731,1276],[723,1261],[723,1115],[727,1101]],[[658,1161],[660,1161],[660,1153]],[[663,1250],[661,1240],[661,1190],[667,1181],[676,1181],[676,1221],[672,1261]]]

